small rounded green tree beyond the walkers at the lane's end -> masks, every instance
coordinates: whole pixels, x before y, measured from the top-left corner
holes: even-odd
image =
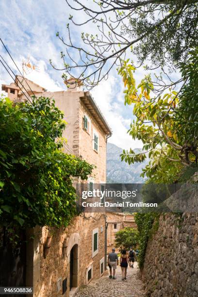
[[[131,227],[125,227],[115,234],[115,247],[130,249],[138,245],[138,231]]]

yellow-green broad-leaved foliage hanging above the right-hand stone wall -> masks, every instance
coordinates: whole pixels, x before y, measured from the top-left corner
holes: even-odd
[[[148,178],[155,176],[159,182],[169,182],[171,176],[177,175],[183,166],[197,163],[197,53],[197,50],[193,51],[188,64],[181,65],[184,83],[179,92],[169,88],[168,93],[162,94],[161,88],[154,88],[156,83],[152,82],[150,75],[146,75],[136,88],[133,77],[135,68],[128,64],[129,60],[124,61],[119,69],[127,87],[124,91],[125,104],[134,105],[133,114],[137,118],[133,120],[128,133],[133,139],[141,139],[144,144],[142,153],[123,150],[121,159],[129,164],[143,162],[148,153],[152,161],[143,169],[142,176],[146,174]]]

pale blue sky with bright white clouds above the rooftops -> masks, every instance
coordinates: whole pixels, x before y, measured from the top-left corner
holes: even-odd
[[[93,2],[92,0],[88,0]],[[66,90],[61,78],[62,72],[53,69],[49,59],[62,67],[60,51],[65,52],[63,43],[56,32],[66,37],[69,9],[65,0],[0,0],[0,38],[9,49],[17,66],[22,70],[22,61],[30,58],[32,64],[39,67],[26,77],[49,91]],[[72,12],[74,18],[77,16]],[[83,13],[78,13],[78,21],[83,21]],[[71,26],[71,35],[79,41],[81,27]],[[16,74],[16,67],[0,44],[0,54]],[[77,57],[76,57],[77,58]],[[136,77],[140,81],[144,71],[139,69]],[[0,85],[9,84],[12,78],[0,64]],[[120,148],[141,148],[142,142],[133,140],[127,131],[134,118],[132,106],[124,105],[124,86],[116,69],[113,69],[107,81],[92,89],[91,94],[113,131],[109,142]]]

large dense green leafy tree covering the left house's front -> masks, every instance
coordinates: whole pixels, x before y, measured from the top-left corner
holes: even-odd
[[[72,178],[87,179],[93,166],[63,152],[63,116],[49,98],[0,99],[0,225],[11,239],[21,228],[67,226],[76,214]]]

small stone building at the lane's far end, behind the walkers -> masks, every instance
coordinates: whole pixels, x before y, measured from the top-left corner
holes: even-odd
[[[125,227],[137,228],[133,214],[106,212],[107,217],[107,253],[115,247],[115,234]],[[116,252],[118,252],[118,248]]]

